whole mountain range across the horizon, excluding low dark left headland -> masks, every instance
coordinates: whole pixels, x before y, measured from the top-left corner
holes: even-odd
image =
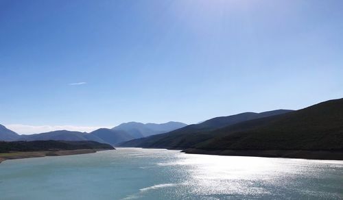
[[[186,153],[343,160],[343,99],[295,111],[220,116],[193,125],[130,122],[91,133],[62,130],[20,136],[0,125],[0,140],[93,140]]]

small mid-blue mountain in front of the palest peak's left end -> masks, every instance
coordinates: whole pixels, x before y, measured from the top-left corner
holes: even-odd
[[[90,135],[96,136],[97,138],[104,140],[104,142],[110,145],[117,145],[119,142],[134,139],[134,137],[127,132],[105,128],[97,129],[94,132],[91,132]]]

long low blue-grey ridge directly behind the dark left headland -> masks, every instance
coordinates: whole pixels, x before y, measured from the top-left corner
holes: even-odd
[[[82,132],[69,132],[67,130],[60,130],[54,132],[47,132],[42,134],[32,134],[32,135],[21,135],[16,140],[66,140],[66,141],[84,141],[93,140],[96,142],[106,143],[101,138],[95,135],[82,133]]]

